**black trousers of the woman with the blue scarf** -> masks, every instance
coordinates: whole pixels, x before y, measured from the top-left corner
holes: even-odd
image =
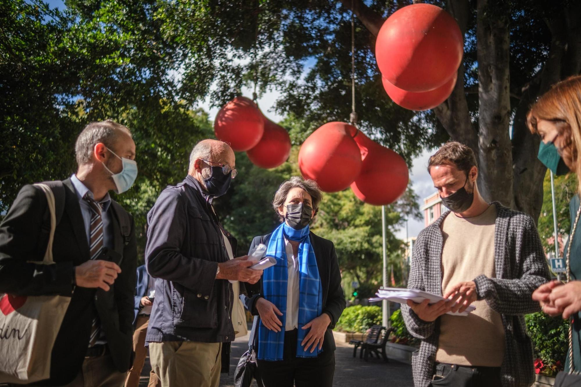
[[[257,377],[264,387],[331,387],[335,372],[335,351],[317,357],[296,357],[297,329],[285,332],[281,361],[257,360]],[[309,347],[310,349],[310,347]]]

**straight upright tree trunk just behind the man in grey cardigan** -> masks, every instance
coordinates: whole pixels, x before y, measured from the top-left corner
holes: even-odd
[[[508,22],[504,0],[478,0],[478,167],[487,202],[512,203],[512,153]]]

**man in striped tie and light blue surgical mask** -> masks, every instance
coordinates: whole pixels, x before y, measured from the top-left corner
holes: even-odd
[[[42,261],[51,223],[44,192],[24,186],[0,224],[0,293],[71,298],[39,385],[123,386],[132,364],[137,242],[132,217],[109,196],[137,177],[135,143],[112,120],[87,125],[77,172],[46,182],[55,196],[55,264]]]

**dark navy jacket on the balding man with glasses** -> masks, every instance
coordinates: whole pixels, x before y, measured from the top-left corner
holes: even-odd
[[[147,342],[234,341],[234,302],[227,279],[216,279],[228,261],[221,225],[189,176],[163,190],[148,214],[145,264],[155,281]],[[228,236],[236,254],[236,240]]]

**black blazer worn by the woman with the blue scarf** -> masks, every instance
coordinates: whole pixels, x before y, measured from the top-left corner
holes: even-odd
[[[261,239],[264,238],[264,244],[268,246],[268,241],[270,241],[270,235],[256,236],[252,240],[250,245],[250,250],[254,246],[259,245]],[[337,260],[337,254],[335,253],[335,246],[333,242],[328,239],[321,238],[315,235],[313,232],[310,233],[309,238],[311,238],[311,245],[313,246],[313,251],[315,253],[315,258],[317,259],[317,267],[319,270],[319,275],[321,277],[321,288],[323,291],[323,308],[322,313],[327,313],[331,317],[331,324],[325,332],[325,338],[323,341],[323,350],[335,350],[335,339],[333,338],[332,329],[335,328],[337,320],[343,313],[345,309],[345,294],[343,293],[343,288],[341,287],[341,273],[339,271],[339,261]],[[258,311],[256,310],[255,304],[256,300],[263,297],[263,287],[262,278],[256,284],[244,283],[246,288],[246,295],[242,295],[242,302],[245,304],[246,309],[256,316]]]

